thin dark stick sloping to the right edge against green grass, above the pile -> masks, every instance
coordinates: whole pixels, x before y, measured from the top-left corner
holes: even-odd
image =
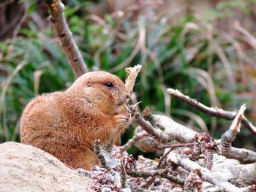
[[[175,96],[177,99],[180,99],[181,101],[186,102],[187,104],[195,107],[197,110],[200,110],[201,112],[204,112],[208,115],[211,115],[217,118],[224,118],[227,120],[233,120],[234,118],[236,118],[236,115],[237,115],[236,111],[230,112],[230,111],[219,109],[217,107],[215,108],[207,107],[204,104],[201,104],[200,102],[198,102],[197,100],[192,99],[189,96],[185,96],[183,93],[181,93],[181,91],[174,90],[173,88],[168,88],[167,92],[170,93],[172,96]],[[252,134],[256,135],[256,127],[253,126],[252,123],[249,122],[249,120],[243,117],[242,123],[246,128],[249,129],[249,131]]]

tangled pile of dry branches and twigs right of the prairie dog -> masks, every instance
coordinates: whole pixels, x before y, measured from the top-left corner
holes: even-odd
[[[94,153],[105,169],[96,167],[92,172],[79,170],[87,176],[105,175],[103,183],[99,181],[101,177],[91,176],[96,180],[94,189],[97,191],[103,188],[109,191],[256,190],[256,153],[231,145],[241,122],[244,122],[245,105],[236,112],[233,123],[221,139],[192,131],[171,118],[151,115],[148,108],[144,110],[143,117],[134,107],[130,108],[134,121],[139,125],[135,136],[126,145],[113,147],[111,154],[100,150],[99,141],[96,141]],[[143,152],[163,153],[159,159],[140,156],[135,160],[127,153],[132,145]],[[240,164],[240,161],[250,164]],[[111,175],[117,179],[109,183],[107,178]]]

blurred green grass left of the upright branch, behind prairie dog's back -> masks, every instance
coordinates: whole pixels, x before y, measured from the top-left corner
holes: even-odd
[[[21,33],[29,38],[0,43],[4,55],[1,65],[9,72],[1,77],[1,141],[18,139],[21,112],[37,93],[67,88],[65,83],[74,78],[55,42],[38,31],[23,28]]]

